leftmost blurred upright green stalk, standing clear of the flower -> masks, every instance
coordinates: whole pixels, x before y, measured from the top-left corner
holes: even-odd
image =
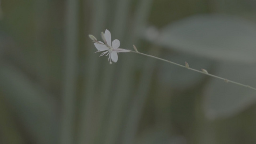
[[[78,47],[78,0],[67,0],[66,52],[60,144],[73,144]]]

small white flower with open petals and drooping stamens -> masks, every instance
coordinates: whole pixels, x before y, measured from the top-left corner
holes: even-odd
[[[100,54],[100,56],[104,56],[104,55],[109,56],[108,60],[110,61],[110,64],[112,63],[111,60],[114,62],[117,62],[118,52],[130,52],[130,50],[119,48],[120,41],[118,39],[113,40],[111,45],[111,34],[109,30],[106,29],[105,33],[104,34],[102,33],[101,36],[104,43],[101,41],[94,41],[95,42],[94,45],[98,49],[98,51],[96,52],[104,51],[103,53]]]

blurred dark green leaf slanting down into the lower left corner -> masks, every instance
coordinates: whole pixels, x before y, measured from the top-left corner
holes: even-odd
[[[53,97],[11,65],[0,66],[0,89],[37,144],[54,144],[56,113]]]

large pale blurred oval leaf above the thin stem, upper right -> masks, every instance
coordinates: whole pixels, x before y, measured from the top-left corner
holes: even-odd
[[[223,15],[196,15],[168,25],[159,45],[213,60],[256,62],[256,26]]]

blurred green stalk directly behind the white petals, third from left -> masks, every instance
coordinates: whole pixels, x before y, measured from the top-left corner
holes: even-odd
[[[112,28],[112,36],[117,37],[121,43],[123,41],[123,37],[125,36],[125,32],[127,31],[127,22],[129,21],[127,17],[129,17],[129,10],[131,9],[131,3],[132,0],[118,0],[117,5],[115,8],[115,14],[114,14],[114,22]],[[112,38],[113,39],[113,38]],[[122,44],[123,46],[123,44]],[[104,140],[104,132],[106,131],[106,119],[108,116],[106,115],[109,110],[109,99],[110,91],[113,86],[113,79],[115,78],[115,68],[117,65],[111,65],[109,63],[106,63],[104,65],[104,72],[103,72],[103,78],[102,78],[102,86],[101,91],[99,93],[100,96],[100,104],[99,104],[99,114],[98,114],[98,127],[96,127],[96,134],[97,137],[95,138],[96,144],[102,144]]]

